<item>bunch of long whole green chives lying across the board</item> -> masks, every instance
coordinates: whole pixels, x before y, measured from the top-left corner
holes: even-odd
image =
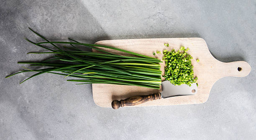
[[[159,85],[161,84],[161,71],[159,64],[161,60],[159,59],[115,47],[80,43],[73,39],[70,39],[73,42],[50,42],[32,29],[31,31],[44,39],[46,42],[35,43],[26,38],[25,39],[38,47],[49,50],[50,52],[30,52],[28,54],[56,55],[53,56],[53,58],[45,61],[18,62],[18,64],[30,64],[31,66],[47,66],[47,68],[32,70],[25,68],[24,70],[20,70],[15,74],[23,72],[36,72],[36,74],[28,78],[31,79],[32,77],[40,74],[50,73],[65,77],[69,76],[80,78],[67,80],[81,82],[79,84],[118,84],[159,89]],[[43,44],[51,44],[56,49],[50,49]],[[64,46],[65,48],[69,49],[67,51],[60,49],[58,46],[56,46],[56,44],[70,44],[71,46]],[[90,47],[101,53],[85,52],[78,49],[74,45]],[[100,48],[114,49],[127,54],[133,54],[134,56],[113,54]],[[6,78],[10,76],[7,76]]]

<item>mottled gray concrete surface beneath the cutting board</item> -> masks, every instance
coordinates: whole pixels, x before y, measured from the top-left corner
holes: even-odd
[[[0,0],[1,140],[253,140],[256,138],[255,0]],[[100,108],[91,85],[62,76],[4,77],[17,61],[47,57],[23,39],[202,37],[220,61],[247,61],[251,73],[217,81],[206,103]]]

